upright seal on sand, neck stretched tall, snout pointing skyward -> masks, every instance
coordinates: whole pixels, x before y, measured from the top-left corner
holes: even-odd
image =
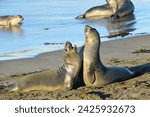
[[[132,78],[135,74],[124,67],[106,67],[99,55],[100,35],[95,28],[85,27],[83,79],[87,86],[103,86]]]

